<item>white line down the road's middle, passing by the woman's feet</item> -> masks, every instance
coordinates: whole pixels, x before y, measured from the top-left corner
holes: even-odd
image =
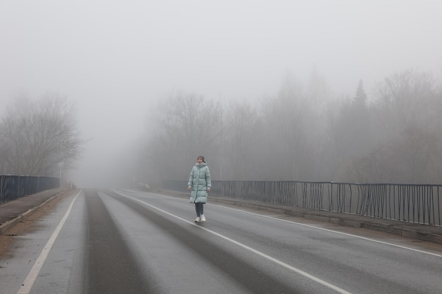
[[[263,252],[261,252],[261,251],[258,251],[258,250],[256,250],[256,249],[253,249],[252,247],[249,247],[249,246],[247,246],[247,245],[244,245],[243,243],[239,243],[238,241],[233,240],[233,239],[231,239],[231,238],[229,238],[229,237],[227,237],[227,236],[225,236],[225,235],[222,235],[222,234],[220,234],[220,233],[216,233],[215,231],[211,231],[211,230],[209,230],[208,228],[204,228],[203,226],[198,226],[198,225],[196,225],[195,223],[193,223],[193,222],[191,222],[191,221],[188,221],[188,220],[186,220],[186,219],[182,219],[181,217],[179,217],[179,216],[177,216],[177,215],[175,215],[175,214],[171,214],[170,212],[166,212],[165,210],[160,209],[160,208],[158,208],[158,207],[155,207],[155,206],[153,206],[152,204],[148,204],[148,203],[146,203],[146,202],[144,202],[144,201],[142,201],[142,200],[138,200],[138,199],[136,199],[136,198],[133,198],[133,197],[130,197],[130,196],[127,196],[127,195],[121,194],[121,193],[119,193],[119,192],[117,192],[117,191],[114,191],[114,192],[116,192],[118,195],[121,195],[122,197],[126,197],[126,198],[129,198],[129,199],[131,199],[131,200],[135,200],[136,202],[140,202],[140,203],[142,203],[142,204],[145,204],[145,205],[147,205],[148,207],[152,207],[153,209],[157,209],[159,212],[162,212],[162,213],[164,213],[164,214],[167,214],[167,215],[169,215],[169,216],[172,216],[172,217],[174,217],[175,219],[179,219],[180,221],[184,221],[184,222],[186,222],[186,223],[189,223],[189,224],[191,224],[192,226],[196,226],[197,228],[201,228],[201,230],[204,230],[204,231],[206,231],[206,232],[208,232],[208,233],[211,233],[211,234],[213,234],[213,235],[216,235],[216,236],[218,236],[218,237],[220,237],[220,238],[222,238],[222,239],[224,239],[224,240],[227,240],[227,241],[229,241],[229,242],[231,242],[231,243],[234,243],[235,245],[238,245],[238,246],[240,246],[240,247],[243,247],[244,249],[249,250],[250,252],[253,252],[253,253],[255,253],[256,255],[259,255],[259,256],[261,256],[261,257],[264,257],[265,259],[268,259],[268,260],[270,260],[271,262],[275,262],[275,264],[279,264],[280,266],[285,267],[286,269],[289,269],[290,271],[294,271],[295,273],[300,274],[301,276],[305,276],[306,278],[309,278],[311,281],[315,281],[316,283],[320,283],[321,285],[323,285],[323,286],[325,286],[325,287],[327,287],[327,288],[330,288],[330,289],[332,289],[332,290],[335,290],[335,291],[338,292],[338,293],[342,293],[342,294],[352,294],[352,293],[348,292],[347,290],[344,290],[344,289],[342,289],[342,288],[339,288],[338,286],[335,286],[335,285],[333,285],[333,284],[331,284],[331,283],[328,283],[328,282],[326,282],[326,281],[323,281],[323,280],[321,280],[321,278],[318,278],[318,277],[316,277],[316,276],[313,276],[313,275],[307,273],[306,271],[302,271],[301,269],[297,269],[296,267],[292,267],[291,265],[286,264],[285,262],[281,262],[280,260],[275,259],[274,257],[271,257],[271,256],[269,256],[269,255],[266,255],[265,253],[263,253]]]

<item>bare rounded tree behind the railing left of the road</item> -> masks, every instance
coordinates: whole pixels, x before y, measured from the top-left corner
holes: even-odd
[[[65,97],[46,94],[32,101],[19,97],[0,124],[3,173],[58,176],[80,153],[76,111]]]

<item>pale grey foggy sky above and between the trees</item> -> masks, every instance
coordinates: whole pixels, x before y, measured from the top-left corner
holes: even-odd
[[[0,1],[0,114],[20,95],[67,97],[88,142],[66,174],[108,185],[174,91],[253,103],[318,73],[335,97],[363,80],[370,98],[396,71],[441,77],[441,11],[438,0]]]

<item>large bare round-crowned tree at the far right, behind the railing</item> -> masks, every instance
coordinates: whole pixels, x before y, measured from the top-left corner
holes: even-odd
[[[371,159],[382,159],[371,166],[371,181],[429,183],[440,181],[440,118],[442,100],[431,75],[402,71],[386,78],[376,88],[374,141],[378,146]],[[364,161],[369,160],[364,159]],[[437,164],[435,164],[437,162]],[[378,178],[379,171],[384,171]],[[439,176],[439,178],[435,176]]]

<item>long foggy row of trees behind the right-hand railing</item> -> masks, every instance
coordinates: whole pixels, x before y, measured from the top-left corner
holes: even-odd
[[[338,99],[320,75],[287,77],[253,103],[173,92],[151,115],[136,173],[183,180],[204,155],[215,180],[441,183],[441,81],[407,70],[372,92],[361,80]]]

